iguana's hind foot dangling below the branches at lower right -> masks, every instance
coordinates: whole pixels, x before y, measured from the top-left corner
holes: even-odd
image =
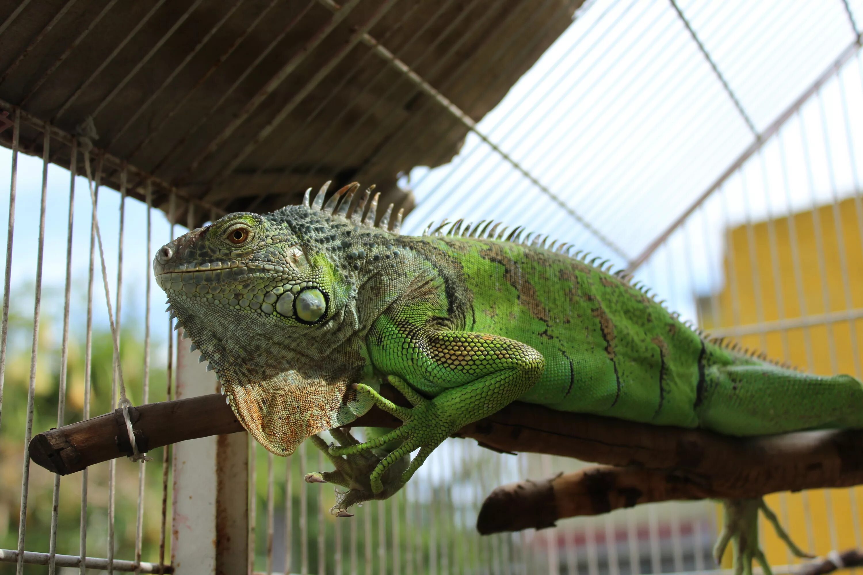
[[[776,515],[764,503],[764,499],[723,499],[722,505],[725,507],[724,524],[719,540],[713,548],[713,556],[716,562],[720,563],[730,541],[734,552],[734,575],[752,575],[753,560],[759,562],[765,575],[772,575],[770,565],[758,544],[759,511],[764,513],[765,519],[776,529],[776,534],[791,549],[791,553],[797,557],[813,557],[791,541],[791,537],[779,525]]]

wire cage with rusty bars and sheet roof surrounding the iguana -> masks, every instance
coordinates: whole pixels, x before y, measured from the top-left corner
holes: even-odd
[[[481,537],[495,486],[583,464],[466,440],[350,520],[302,480],[326,468],[305,444],[277,459],[223,435],[64,478],[26,446],[123,387],[217,391],[161,312],[154,247],[327,179],[377,180],[406,234],[547,234],[712,334],[863,377],[861,17],[840,0],[0,3],[0,573],[728,568],[711,502]],[[768,503],[824,555],[861,547],[859,489]]]

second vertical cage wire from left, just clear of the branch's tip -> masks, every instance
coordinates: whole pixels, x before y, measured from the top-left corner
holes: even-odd
[[[45,255],[45,209],[48,191],[48,158],[50,157],[51,129],[46,123],[42,128],[42,197],[39,209],[39,244],[36,252],[36,278],[33,304],[33,345],[30,348],[30,381],[27,391],[27,425],[24,428],[24,461],[21,475],[21,516],[18,520],[18,563],[16,575],[24,572],[24,534],[27,528],[27,497],[29,495],[30,454],[28,445],[33,436],[33,402],[36,391],[36,361],[39,357],[39,321],[42,304],[42,263]]]

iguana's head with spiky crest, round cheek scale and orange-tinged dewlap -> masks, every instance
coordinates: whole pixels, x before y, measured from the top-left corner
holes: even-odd
[[[243,427],[276,454],[370,407],[350,385],[365,363],[357,285],[373,262],[398,252],[386,229],[392,206],[383,229],[372,228],[377,197],[363,221],[367,191],[348,219],[358,187],[326,206],[324,185],[314,203],[306,191],[299,206],[229,214],[161,247],[153,261],[184,335]]]

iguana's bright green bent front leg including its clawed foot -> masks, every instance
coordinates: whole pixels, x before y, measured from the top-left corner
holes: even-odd
[[[545,359],[537,350],[499,335],[409,330],[404,323],[385,321],[380,339],[382,345],[373,348],[372,353],[375,366],[394,373],[389,376],[390,383],[413,408],[399,407],[358,384],[358,390],[403,424],[356,446],[330,448],[332,455],[349,455],[400,440],[400,446],[382,459],[369,476],[375,493],[384,489],[381,477],[395,461],[419,449],[401,474],[403,484],[442,441],[464,425],[512,403],[530,390],[545,367]],[[440,391],[426,399],[416,389]]]

